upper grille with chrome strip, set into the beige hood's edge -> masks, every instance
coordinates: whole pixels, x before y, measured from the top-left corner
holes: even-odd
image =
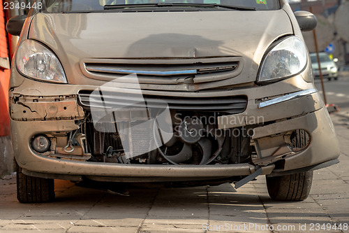
[[[242,71],[242,57],[205,59],[84,59],[80,66],[89,78],[114,80],[136,73],[140,84],[207,83],[232,78]],[[119,79],[120,82],[128,83]]]

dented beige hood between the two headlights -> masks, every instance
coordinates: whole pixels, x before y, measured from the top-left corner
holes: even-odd
[[[293,34],[284,10],[152,13],[38,13],[29,38],[59,57],[68,83],[87,84],[84,59],[198,59],[238,56],[255,81],[269,45]],[[91,82],[91,80],[90,80]]]

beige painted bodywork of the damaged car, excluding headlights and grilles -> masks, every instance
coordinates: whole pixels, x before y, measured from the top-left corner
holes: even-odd
[[[248,97],[246,110],[243,113],[219,117],[218,128],[228,129],[248,125],[254,128],[255,134],[251,144],[260,143],[265,148],[264,151],[268,151],[260,153],[258,158],[253,158],[255,166],[263,167],[263,174],[272,173],[275,167],[273,155],[277,155],[278,160],[285,161],[285,166],[281,169],[283,171],[335,160],[339,156],[338,141],[327,110],[317,92],[265,108],[258,107],[262,101],[314,88],[310,61],[306,69],[296,76],[269,85],[255,83],[259,64],[269,45],[287,35],[294,34],[302,38],[299,28],[292,27],[297,24],[297,20],[290,6],[286,3],[281,3],[281,6],[281,10],[258,12],[70,15],[39,13],[28,19],[24,24],[20,41],[31,38],[49,46],[64,66],[68,84],[31,80],[22,76],[13,66],[10,118],[18,164],[24,172],[35,176],[53,174],[51,176],[53,178],[64,178],[68,175],[70,179],[71,176],[89,176],[96,180],[112,177],[114,181],[118,181],[118,177],[119,180],[144,178],[144,176],[159,178],[164,174],[170,180],[253,174],[256,167],[246,163],[219,166],[154,164],[125,166],[85,162],[81,159],[81,156],[85,156],[82,149],[72,153],[70,160],[68,158],[64,160],[61,159],[61,155],[54,153],[38,155],[29,146],[29,141],[36,134],[51,135],[52,132],[59,132],[57,135],[61,136],[61,132],[71,132],[79,128],[77,121],[83,120],[86,115],[78,104],[77,93],[80,90],[94,90],[108,80],[108,77],[98,80],[98,76],[86,71],[85,61],[99,60],[112,64],[121,59],[131,63],[146,60],[147,64],[154,64],[170,59],[178,62],[179,59],[212,57],[238,57],[242,59],[239,60],[240,70],[232,78],[202,83],[195,82],[195,78],[192,83],[170,84],[144,80],[140,83],[143,94],[212,98],[246,95]],[[175,15],[175,18],[168,17],[168,14]],[[105,31],[105,28],[113,30]],[[132,85],[126,80],[123,87],[132,88]],[[33,101],[39,98],[40,101]],[[64,109],[67,105],[68,108]],[[264,117],[263,122],[253,122],[253,124],[248,122],[248,117],[258,115]],[[236,118],[243,120],[232,122]],[[265,122],[268,124],[264,125]],[[281,150],[287,141],[287,139],[282,140],[283,136],[277,138],[280,143],[276,145],[270,143],[276,139],[277,134],[287,135],[287,132],[294,129],[304,129],[311,136],[310,143],[304,150]],[[326,135],[323,132],[326,132]],[[80,156],[80,159],[76,158],[77,156]]]

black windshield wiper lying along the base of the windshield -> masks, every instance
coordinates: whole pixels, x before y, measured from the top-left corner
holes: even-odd
[[[230,6],[230,5],[222,5],[217,3],[143,3],[143,4],[120,4],[120,5],[105,5],[104,10],[114,10],[120,8],[140,8],[140,7],[171,7],[171,6],[179,6],[179,7],[202,7],[202,8],[228,8],[232,10],[255,10],[253,7],[247,6]]]

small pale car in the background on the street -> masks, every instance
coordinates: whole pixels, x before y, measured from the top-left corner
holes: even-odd
[[[311,67],[313,68],[313,75],[315,78],[320,78],[320,71],[318,65],[318,59],[316,58],[316,53],[310,54],[311,57]],[[338,79],[338,66],[332,60],[326,52],[319,52],[320,66],[322,71],[322,77],[327,78],[329,81],[334,78]]]

